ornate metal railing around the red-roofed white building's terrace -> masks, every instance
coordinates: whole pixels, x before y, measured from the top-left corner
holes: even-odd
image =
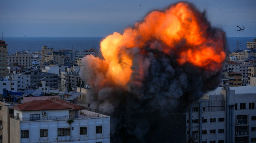
[[[13,114],[11,114],[11,118],[18,121],[84,119],[84,118],[98,118],[98,117],[108,117],[108,116],[103,114],[88,114],[88,115],[74,115],[74,116],[65,115],[65,116],[38,116],[37,118],[32,118],[32,117],[19,118],[19,116],[14,116]]]

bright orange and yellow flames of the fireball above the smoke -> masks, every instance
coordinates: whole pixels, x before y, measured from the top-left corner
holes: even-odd
[[[160,41],[167,45],[150,46],[165,54],[177,51],[176,61],[180,65],[188,62],[207,71],[217,72],[226,57],[224,33],[220,31],[221,34],[212,35],[207,32],[208,28],[202,14],[187,3],[172,5],[165,12],[150,12],[144,22],[135,23],[134,28],[126,28],[123,35],[114,32],[101,42],[102,56],[108,65],[105,76],[125,87],[133,72],[133,54],[129,49],[138,48],[143,53],[142,48],[148,41]],[[181,41],[185,44],[177,49],[175,45]],[[139,74],[143,75],[141,72]]]

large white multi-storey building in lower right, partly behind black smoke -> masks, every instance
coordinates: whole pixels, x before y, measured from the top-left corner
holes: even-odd
[[[199,143],[256,142],[256,88],[218,87],[192,104],[187,140]]]

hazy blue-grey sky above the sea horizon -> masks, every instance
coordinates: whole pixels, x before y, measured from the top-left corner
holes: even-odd
[[[1,0],[0,32],[6,37],[106,37],[123,33],[152,10],[176,0]],[[227,37],[256,37],[255,0],[188,0],[206,12]],[[237,31],[239,28],[245,29]]]

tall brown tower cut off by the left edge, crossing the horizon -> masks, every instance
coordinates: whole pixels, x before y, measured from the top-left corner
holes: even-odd
[[[7,44],[5,41],[0,40],[0,77],[7,76]]]

